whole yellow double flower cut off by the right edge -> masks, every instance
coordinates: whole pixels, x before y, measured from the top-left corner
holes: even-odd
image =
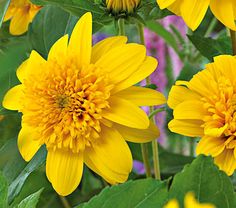
[[[189,82],[177,81],[168,105],[174,109],[171,131],[202,137],[197,154],[211,155],[228,175],[236,168],[236,59],[222,55]]]

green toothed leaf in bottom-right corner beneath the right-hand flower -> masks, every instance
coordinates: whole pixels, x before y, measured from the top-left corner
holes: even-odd
[[[194,192],[201,203],[212,203],[218,208],[236,207],[236,198],[230,178],[218,169],[211,157],[199,155],[191,165],[176,174],[169,198],[177,198],[183,206],[187,192]]]

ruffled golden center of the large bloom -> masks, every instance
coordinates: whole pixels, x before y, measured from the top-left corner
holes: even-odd
[[[37,128],[42,144],[78,152],[99,138],[113,88],[108,75],[94,65],[77,69],[47,62],[31,79],[24,83],[23,122]]]

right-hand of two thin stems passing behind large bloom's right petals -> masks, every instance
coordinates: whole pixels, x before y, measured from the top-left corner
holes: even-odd
[[[141,44],[145,45],[143,25],[141,23],[138,24],[138,29],[139,29],[140,42],[141,42]],[[150,76],[146,78],[146,84],[147,85],[151,84]],[[154,111],[154,108],[150,107],[149,108],[149,114],[152,115],[153,111]],[[155,123],[155,119],[154,119],[153,116],[150,120],[153,123]],[[153,164],[154,164],[155,178],[161,180],[159,153],[158,153],[158,143],[157,143],[156,139],[152,141],[152,151],[153,151]]]

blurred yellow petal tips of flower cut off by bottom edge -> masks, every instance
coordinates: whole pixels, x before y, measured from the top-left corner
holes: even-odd
[[[176,199],[170,200],[164,208],[179,208],[179,204]],[[194,198],[194,194],[192,192],[188,192],[184,198],[184,208],[215,208],[213,204],[200,204]]]

